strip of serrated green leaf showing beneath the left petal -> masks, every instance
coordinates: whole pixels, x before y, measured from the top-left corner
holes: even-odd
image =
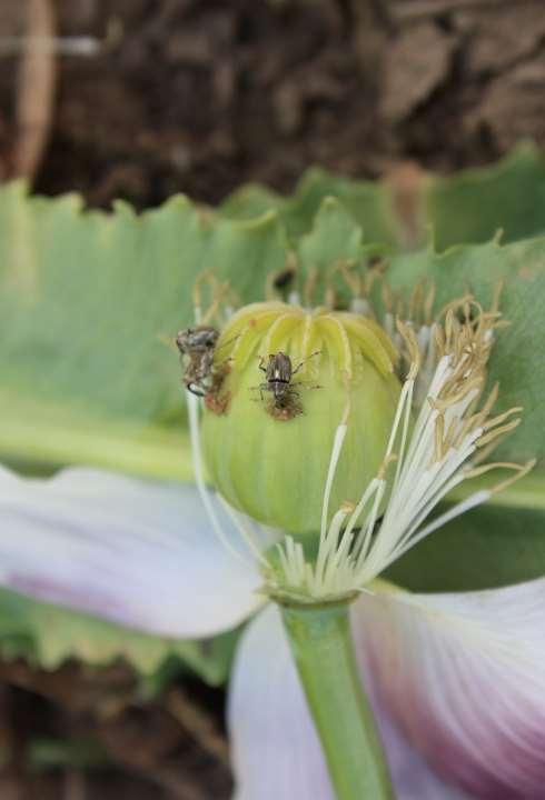
[[[209,683],[225,680],[234,634],[206,641],[175,640],[128,630],[96,617],[67,611],[0,590],[0,652],[54,670],[69,659],[97,667],[123,659],[151,679],[172,658]]]

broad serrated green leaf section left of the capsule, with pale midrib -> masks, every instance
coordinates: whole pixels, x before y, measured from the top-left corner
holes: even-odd
[[[126,203],[83,212],[75,196],[1,188],[0,457],[187,477],[165,339],[194,322],[202,270],[245,301],[285,261],[274,214],[234,222],[181,197],[141,216]]]

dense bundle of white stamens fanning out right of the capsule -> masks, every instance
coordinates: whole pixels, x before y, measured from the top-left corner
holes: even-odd
[[[387,327],[394,329],[393,320],[387,322]],[[279,546],[287,593],[316,600],[365,591],[366,584],[412,547],[489,499],[495,489],[477,491],[422,527],[437,503],[475,474],[469,459],[476,456],[477,448],[509,430],[512,423],[506,420],[519,411],[512,409],[489,418],[497,390],[480,411],[475,411],[485,382],[484,368],[490,349],[488,334],[494,324],[497,324],[495,317],[483,313],[476,322],[472,323],[467,317],[459,322],[453,307],[444,328],[434,323],[415,334],[410,326],[399,326],[399,334],[413,358],[380,470],[364,490],[356,508],[350,513],[340,509],[328,526],[331,488],[347,433],[344,418],[337,428],[326,479],[316,564],[306,561],[303,548],[290,537]],[[439,358],[435,363],[437,349]],[[410,430],[410,410],[422,390],[424,401]],[[393,461],[397,461],[395,476],[377,532]],[[532,464],[497,467],[515,471],[513,479],[499,484],[503,487],[525,474]],[[478,472],[486,469],[478,468]]]

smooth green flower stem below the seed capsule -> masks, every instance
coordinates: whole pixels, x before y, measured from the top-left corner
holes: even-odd
[[[283,606],[281,611],[338,800],[392,800],[392,781],[356,666],[348,603]]]

